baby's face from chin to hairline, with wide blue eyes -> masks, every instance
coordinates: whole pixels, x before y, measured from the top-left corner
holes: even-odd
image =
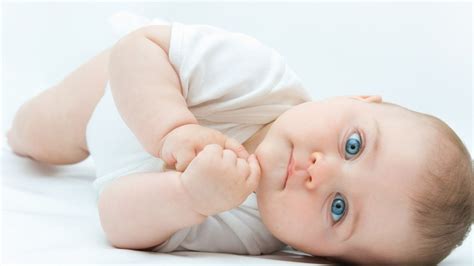
[[[256,149],[260,213],[281,241],[352,261],[393,261],[413,249],[407,195],[420,184],[428,130],[407,112],[370,101],[295,106]]]

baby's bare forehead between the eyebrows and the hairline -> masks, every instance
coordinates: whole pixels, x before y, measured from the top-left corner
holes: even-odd
[[[353,247],[388,257],[415,242],[409,195],[419,188],[427,146],[432,145],[426,126],[397,109],[377,108],[363,114],[379,125],[377,158],[370,158],[375,159],[373,164],[361,162],[355,171],[364,178],[351,184],[364,209]]]

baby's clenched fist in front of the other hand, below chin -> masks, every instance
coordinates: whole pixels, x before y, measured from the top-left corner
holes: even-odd
[[[192,199],[192,208],[211,216],[242,204],[257,188],[260,166],[255,155],[245,160],[211,144],[191,161],[181,181]]]

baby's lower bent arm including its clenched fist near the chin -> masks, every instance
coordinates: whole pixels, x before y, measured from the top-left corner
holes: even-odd
[[[245,160],[220,145],[207,145],[184,173],[138,173],[111,183],[99,199],[102,227],[116,247],[154,247],[182,228],[240,205],[259,180],[254,155]]]

